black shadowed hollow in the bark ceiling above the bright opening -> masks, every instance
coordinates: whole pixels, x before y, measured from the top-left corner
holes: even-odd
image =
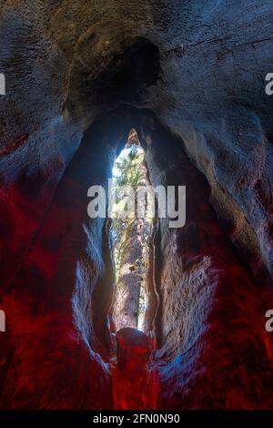
[[[85,43],[90,44],[93,52],[94,43],[89,40]],[[78,117],[86,124],[121,103],[145,102],[147,91],[157,84],[161,75],[159,49],[145,37],[131,38],[120,45],[106,48],[103,58],[93,52],[96,61],[91,70],[81,67],[79,72],[78,64],[74,65],[63,105],[63,114],[69,120]],[[86,117],[82,117],[83,111]]]

